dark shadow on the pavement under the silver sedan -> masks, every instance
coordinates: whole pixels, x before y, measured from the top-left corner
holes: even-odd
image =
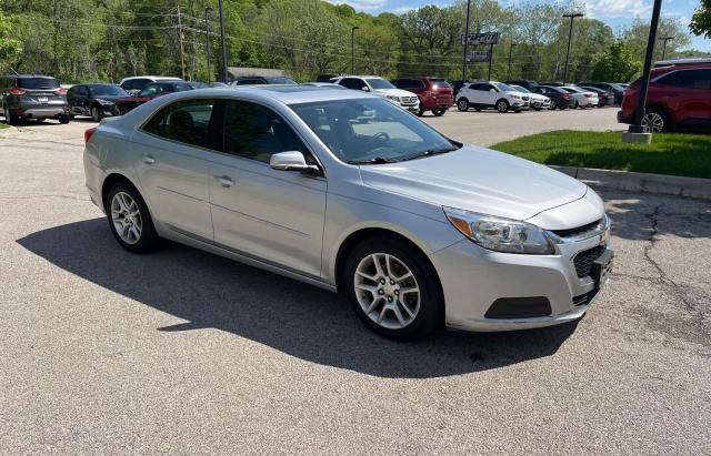
[[[107,290],[186,320],[166,333],[214,327],[323,365],[380,377],[439,377],[550,356],[575,324],[514,333],[447,332],[398,343],[368,331],[340,295],[173,245],[123,251],[104,219],[56,226],[18,243]]]

